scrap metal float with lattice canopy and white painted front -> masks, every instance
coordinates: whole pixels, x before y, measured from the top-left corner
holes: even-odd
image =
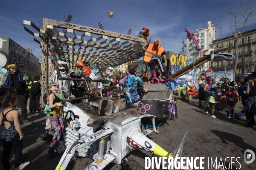
[[[131,61],[140,58],[142,56],[141,47],[145,43],[145,40],[139,37],[49,20],[47,18],[43,18],[43,29],[39,29],[35,24],[26,20],[23,21],[23,25],[25,30],[34,36],[34,40],[43,49],[43,77],[41,82],[43,83],[44,90],[47,85],[48,56],[54,57],[55,64],[57,63],[57,53],[58,57],[69,57],[71,62],[74,60],[77,61],[80,58],[87,62],[96,63],[98,68],[98,62],[103,68],[109,65],[115,67],[116,65],[127,62],[127,60]],[[32,26],[37,33],[33,33],[25,25]],[[60,32],[57,28],[62,28],[64,31]],[[82,35],[77,35],[76,31],[82,32]],[[67,32],[70,33],[70,38],[66,36]],[[95,34],[97,37],[93,37],[92,34]],[[89,39],[86,39],[86,36],[89,36]],[[38,37],[41,38],[41,42],[37,39]],[[218,54],[218,51],[209,49],[204,51],[204,57],[177,71],[168,77],[168,79],[169,81],[177,79],[193,68],[217,57],[226,60],[233,60],[234,58],[232,54]],[[74,66],[70,65],[70,68],[74,68]],[[59,74],[58,67],[56,67],[56,70]],[[100,69],[99,72],[101,74]],[[167,152],[146,137],[153,130],[140,129],[140,122],[143,117],[152,115],[166,117],[166,113],[159,114],[154,109],[154,103],[151,105],[145,103],[143,105],[144,110],[142,110],[144,114],[134,115],[134,108],[119,111],[119,99],[112,97],[104,98],[100,95],[119,88],[119,84],[108,88],[96,89],[93,86],[93,82],[102,82],[102,80],[62,78],[60,74],[59,79],[84,81],[83,87],[89,103],[72,105],[70,102],[63,101],[64,119],[68,124],[64,131],[67,149],[61,157],[56,170],[64,170],[76,151],[79,156],[93,160],[84,167],[84,169],[89,170],[102,170],[112,161],[122,165],[124,164],[122,160],[125,156],[135,148],[146,150],[163,157],[174,155],[173,152]],[[91,84],[92,88],[89,87],[89,84]],[[163,88],[161,84],[145,84],[145,87],[148,87],[150,90],[145,94],[142,102],[150,102],[149,100],[151,100],[151,102],[160,102],[163,105],[166,103],[159,101],[168,98],[169,94],[166,93],[166,87]],[[158,95],[156,95],[157,93]],[[153,110],[151,112],[152,114],[145,114],[149,111],[148,105],[151,109],[154,109],[154,112]],[[177,153],[175,153],[176,156],[180,154],[185,138],[186,133],[178,147]]]

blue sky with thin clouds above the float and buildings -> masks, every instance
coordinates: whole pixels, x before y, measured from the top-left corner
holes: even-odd
[[[165,51],[180,52],[184,29],[190,32],[207,26],[211,20],[219,24],[221,16],[223,37],[230,35],[228,15],[241,3],[251,2],[256,7],[256,0],[0,0],[0,36],[10,37],[23,46],[32,48],[38,58],[41,50],[32,40],[32,35],[23,28],[23,20],[32,21],[40,26],[42,17],[64,20],[72,15],[70,23],[99,28],[101,22],[105,30],[137,36],[143,27],[150,29],[152,39],[159,38]],[[113,12],[113,18],[108,16]],[[256,28],[256,16],[250,19],[247,30]],[[216,28],[216,39],[220,33]]]

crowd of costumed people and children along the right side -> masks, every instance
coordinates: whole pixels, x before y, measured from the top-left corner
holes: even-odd
[[[227,110],[226,118],[235,118],[239,120],[239,117],[245,113],[247,119],[247,127],[252,127],[255,123],[253,114],[256,113],[255,108],[255,89],[254,82],[256,80],[256,72],[251,73],[248,77],[236,81],[231,81],[228,78],[221,77],[219,82],[215,82],[212,77],[205,77],[206,74],[201,74],[199,77],[199,89],[198,99],[199,108],[203,108],[209,116],[214,116],[214,110],[216,107]],[[186,79],[189,82],[189,79]],[[191,88],[187,83],[186,89]],[[236,103],[241,100],[244,109],[238,114],[234,114]],[[187,99],[190,102],[190,96]],[[204,101],[204,104],[202,104]],[[211,113],[208,110],[211,110]]]

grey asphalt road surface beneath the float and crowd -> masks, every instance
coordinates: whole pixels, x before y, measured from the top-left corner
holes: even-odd
[[[121,103],[121,109],[125,103]],[[156,142],[170,153],[173,153],[180,144],[185,132],[187,132],[182,156],[204,157],[204,167],[208,169],[208,158],[215,160],[219,164],[220,159],[228,167],[233,159],[232,168],[240,170],[255,170],[256,160],[251,164],[244,162],[244,150],[250,149],[256,153],[256,126],[245,127],[245,118],[240,121],[225,118],[226,112],[215,111],[217,118],[208,116],[203,110],[197,107],[198,100],[192,99],[190,103],[177,101],[178,118],[172,120],[172,125],[163,124],[159,128],[159,133],[150,133],[148,138]],[[241,104],[235,107],[235,113],[243,109]],[[50,142],[43,142],[40,134],[45,126],[45,114],[28,113],[32,124],[22,125],[25,138],[23,139],[23,162],[31,161],[25,170],[55,170],[61,155],[49,157],[48,148]],[[143,120],[142,120],[143,121]],[[0,152],[2,156],[2,152]],[[133,150],[128,156],[129,170],[145,169],[145,157],[155,156],[144,150]],[[14,165],[14,149],[12,150],[11,165]],[[67,170],[82,170],[84,164],[90,160],[84,158],[73,158],[67,166]],[[241,167],[240,167],[241,166]],[[221,166],[222,168],[222,166]],[[0,169],[3,169],[0,163]],[[156,169],[156,167],[155,167]],[[209,168],[211,169],[211,168]],[[212,169],[214,169],[212,167]],[[224,168],[225,169],[225,168]],[[227,169],[227,168],[226,168]],[[105,170],[116,170],[115,164],[109,164]]]

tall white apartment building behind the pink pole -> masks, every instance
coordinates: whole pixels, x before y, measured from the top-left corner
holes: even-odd
[[[190,30],[189,30],[190,31]],[[192,33],[192,31],[190,31]],[[197,29],[194,33],[195,38],[198,42],[198,44],[201,46],[201,56],[203,57],[203,52],[205,49],[208,48],[210,44],[215,40],[215,27],[213,26],[213,23],[209,20],[207,22],[207,27],[202,27],[201,29]],[[196,51],[197,48],[195,46],[195,42],[193,40],[189,40],[186,38],[186,52],[188,56],[192,57],[199,57],[199,51]],[[204,70],[209,69],[209,62],[204,64]]]

